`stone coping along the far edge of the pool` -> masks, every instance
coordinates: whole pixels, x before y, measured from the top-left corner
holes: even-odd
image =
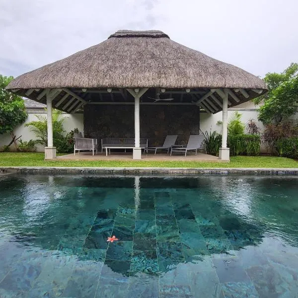
[[[298,168],[165,168],[165,167],[39,167],[0,166],[2,173],[102,173],[102,174],[151,174],[151,175],[298,175]]]

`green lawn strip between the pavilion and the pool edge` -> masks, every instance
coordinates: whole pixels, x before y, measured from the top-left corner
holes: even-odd
[[[63,154],[60,154],[63,155]],[[196,161],[44,160],[44,153],[0,152],[0,166],[298,168],[298,161],[276,156],[231,156],[229,163]]]

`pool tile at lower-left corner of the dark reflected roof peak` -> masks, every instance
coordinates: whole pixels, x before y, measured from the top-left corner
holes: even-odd
[[[105,260],[100,282],[126,283],[130,274],[131,261]]]

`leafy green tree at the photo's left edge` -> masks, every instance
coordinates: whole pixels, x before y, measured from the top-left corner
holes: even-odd
[[[15,139],[14,128],[27,119],[24,100],[5,87],[13,79],[12,76],[3,76],[0,74],[0,135],[9,133],[12,137],[10,146]],[[16,144],[16,142],[15,142]]]

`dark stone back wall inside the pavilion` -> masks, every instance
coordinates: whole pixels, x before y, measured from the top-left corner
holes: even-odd
[[[141,138],[149,146],[163,144],[166,135],[178,135],[176,144],[186,144],[189,135],[200,133],[200,112],[195,106],[141,105]],[[134,137],[134,105],[84,106],[84,136]]]

